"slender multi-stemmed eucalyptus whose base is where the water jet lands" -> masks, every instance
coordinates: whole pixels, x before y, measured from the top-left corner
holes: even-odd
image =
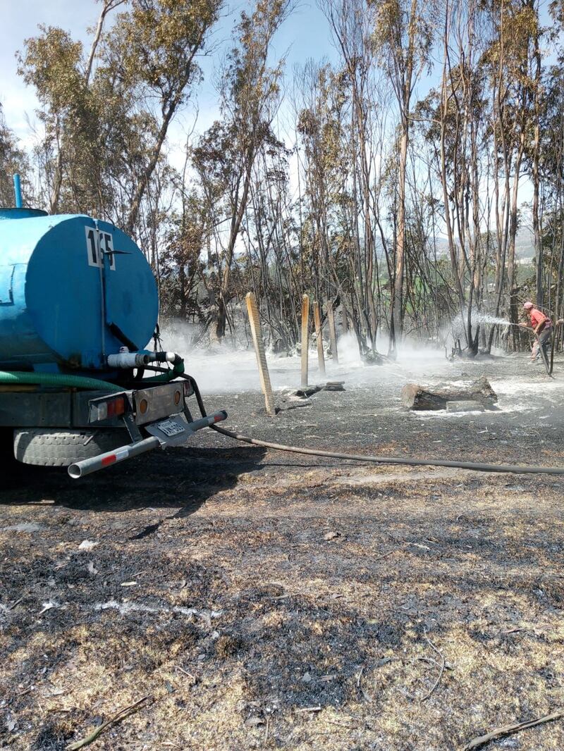
[[[417,105],[419,128],[441,187],[442,222],[466,344],[477,348],[472,310],[481,306],[484,258],[481,198],[489,132],[484,17],[474,0],[447,0],[443,8],[441,83]]]

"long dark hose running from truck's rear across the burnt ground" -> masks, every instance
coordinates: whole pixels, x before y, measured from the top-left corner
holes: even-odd
[[[198,384],[191,375],[183,375],[183,378],[190,381],[196,402],[202,417],[206,417],[204,400],[198,388]],[[235,439],[253,446],[262,448],[272,448],[274,451],[289,451],[292,454],[308,454],[313,457],[326,457],[329,459],[345,459],[356,462],[368,462],[371,464],[402,464],[408,466],[432,466],[432,467],[454,467],[456,469],[472,469],[475,472],[510,472],[514,475],[564,475],[564,467],[541,467],[541,466],[518,466],[514,464],[483,464],[479,462],[460,462],[446,459],[406,459],[405,457],[376,457],[371,454],[343,454],[340,451],[320,451],[317,448],[301,448],[299,446],[287,446],[281,443],[271,443],[269,441],[260,441],[256,438],[243,436],[241,433],[233,433],[218,425],[211,425],[212,430],[221,433],[222,436]]]

